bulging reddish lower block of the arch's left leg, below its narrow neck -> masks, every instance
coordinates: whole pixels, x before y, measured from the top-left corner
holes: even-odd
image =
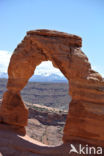
[[[28,110],[19,93],[6,91],[0,107],[0,123],[10,125],[16,132],[25,134]]]

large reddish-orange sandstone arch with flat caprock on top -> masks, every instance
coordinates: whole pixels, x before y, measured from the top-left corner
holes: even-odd
[[[33,75],[37,65],[50,60],[69,80],[72,96],[64,128],[63,141],[82,139],[104,144],[104,81],[91,69],[87,56],[81,51],[82,39],[57,31],[27,32],[17,46],[8,67],[7,91],[0,107],[0,122],[25,133],[28,111],[20,91]]]

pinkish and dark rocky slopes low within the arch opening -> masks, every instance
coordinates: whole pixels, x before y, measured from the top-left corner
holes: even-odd
[[[68,112],[37,104],[26,105],[29,110],[27,135],[46,145],[61,144]]]

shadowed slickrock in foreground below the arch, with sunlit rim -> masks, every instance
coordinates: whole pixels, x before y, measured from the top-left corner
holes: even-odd
[[[74,152],[70,153],[72,149],[70,145],[79,151],[79,144],[86,147],[86,142],[70,140],[69,143],[64,143],[60,146],[47,146],[36,140],[31,139],[27,135],[17,135],[8,125],[0,124],[0,156],[78,156]],[[92,147],[91,144],[87,144]],[[97,147],[95,146],[97,151]],[[85,149],[84,149],[85,152]],[[104,149],[102,148],[104,155]],[[83,156],[85,154],[81,154]],[[93,156],[93,154],[86,154]],[[102,156],[102,154],[99,154]],[[94,154],[94,156],[98,156]]]

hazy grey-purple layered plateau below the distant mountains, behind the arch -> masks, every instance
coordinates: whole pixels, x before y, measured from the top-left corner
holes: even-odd
[[[0,79],[0,98],[6,91],[7,79]],[[68,83],[50,82],[28,82],[22,90],[21,95],[24,101],[31,104],[40,104],[52,108],[68,110],[69,97]]]

